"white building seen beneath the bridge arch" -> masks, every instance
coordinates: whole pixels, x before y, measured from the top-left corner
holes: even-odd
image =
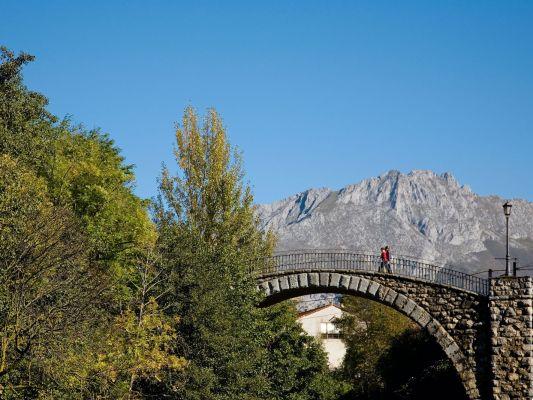
[[[342,364],[346,346],[342,341],[339,330],[333,324],[335,318],[342,316],[342,310],[333,304],[328,304],[313,310],[298,314],[298,321],[308,335],[319,338],[328,354],[330,368],[338,368]]]

